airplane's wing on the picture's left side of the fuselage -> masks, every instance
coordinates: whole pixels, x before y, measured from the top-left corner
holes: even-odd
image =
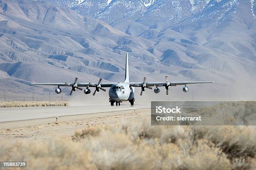
[[[75,83],[77,84],[77,87],[95,87],[97,85],[97,82],[89,82],[89,83]],[[101,87],[111,87],[113,84],[116,84],[115,82],[113,83],[100,83]],[[72,86],[74,83],[70,82],[61,82],[61,83],[31,83],[31,85],[55,85],[55,86]]]

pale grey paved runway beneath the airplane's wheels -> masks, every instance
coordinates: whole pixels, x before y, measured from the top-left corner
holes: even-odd
[[[0,122],[31,120],[56,116],[82,115],[98,112],[113,112],[139,108],[150,108],[150,105],[98,105],[98,106],[66,106],[66,107],[4,107],[0,108]]]

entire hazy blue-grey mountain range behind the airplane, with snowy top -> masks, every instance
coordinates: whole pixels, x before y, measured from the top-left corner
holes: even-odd
[[[123,81],[128,52],[132,81],[212,80],[196,89],[252,95],[255,8],[253,0],[0,0],[0,90]]]

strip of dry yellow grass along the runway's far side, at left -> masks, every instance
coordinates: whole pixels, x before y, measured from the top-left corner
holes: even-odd
[[[0,107],[67,106],[67,101],[10,101],[0,102]]]

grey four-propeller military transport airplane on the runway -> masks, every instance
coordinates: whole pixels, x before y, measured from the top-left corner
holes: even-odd
[[[55,85],[58,86],[55,90],[57,94],[61,93],[60,86],[71,86],[72,90],[70,92],[70,95],[72,95],[73,91],[76,91],[76,89],[82,90],[81,87],[86,87],[84,89],[84,94],[90,94],[91,90],[89,87],[95,87],[95,91],[93,92],[93,95],[95,95],[96,92],[99,92],[100,90],[106,91],[102,87],[110,87],[109,89],[109,102],[111,103],[111,106],[114,105],[120,105],[120,102],[123,101],[129,101],[131,103],[131,106],[134,104],[134,90],[135,87],[141,87],[141,95],[143,91],[145,91],[146,88],[152,89],[152,87],[155,87],[154,92],[159,93],[161,86],[164,86],[166,89],[166,95],[168,95],[168,90],[170,86],[176,86],[176,85],[184,85],[183,92],[188,92],[188,84],[199,84],[199,83],[212,83],[212,81],[187,81],[187,82],[168,82],[167,76],[165,77],[165,82],[146,82],[146,77],[144,77],[143,82],[129,82],[129,67],[128,67],[128,53],[126,53],[126,65],[125,65],[125,80],[124,82],[110,82],[110,83],[101,83],[101,78],[99,82],[97,83],[78,83],[77,78],[75,78],[74,83],[32,83],[31,85]]]

